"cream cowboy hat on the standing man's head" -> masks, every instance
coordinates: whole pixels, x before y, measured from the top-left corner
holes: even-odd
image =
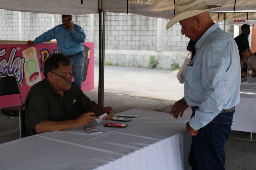
[[[179,0],[174,4],[174,9],[177,15],[168,22],[166,30],[181,20],[219,7],[222,6],[207,5],[205,0]]]

